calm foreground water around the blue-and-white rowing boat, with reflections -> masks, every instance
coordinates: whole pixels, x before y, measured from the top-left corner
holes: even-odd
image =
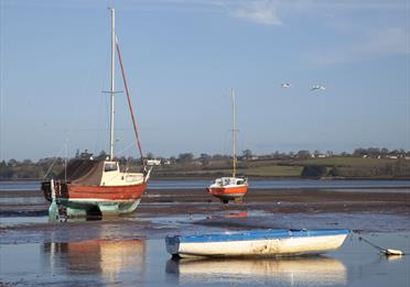
[[[410,252],[410,232],[366,238]],[[288,260],[176,262],[163,240],[0,245],[1,282],[18,286],[409,286],[409,266],[410,256],[387,258],[357,235],[326,256]]]

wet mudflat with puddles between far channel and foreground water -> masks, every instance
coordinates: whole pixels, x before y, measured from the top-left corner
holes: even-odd
[[[46,222],[47,208],[48,202],[40,191],[0,192],[0,243],[161,239],[166,234],[220,229],[410,230],[410,194],[389,189],[386,192],[251,189],[242,203],[229,205],[222,205],[203,189],[148,190],[132,214],[57,224]],[[12,223],[14,218],[26,220]],[[37,218],[41,222],[30,222]]]

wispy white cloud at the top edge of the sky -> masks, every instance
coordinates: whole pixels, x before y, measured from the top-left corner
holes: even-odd
[[[230,13],[235,18],[246,19],[258,24],[282,25],[277,14],[278,1],[242,2]]]

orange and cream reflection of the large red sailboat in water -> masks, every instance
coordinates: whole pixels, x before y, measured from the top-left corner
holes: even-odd
[[[147,266],[141,240],[44,243],[43,253],[53,274],[88,275],[104,283],[123,280],[127,274],[140,279]]]

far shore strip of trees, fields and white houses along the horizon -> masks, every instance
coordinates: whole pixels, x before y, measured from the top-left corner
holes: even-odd
[[[107,153],[101,151],[95,159],[107,158]],[[31,159],[17,161],[9,159],[0,162],[0,179],[41,179],[44,177],[53,177],[64,170],[65,165],[73,158],[90,158],[93,157],[87,151],[76,154],[71,158],[47,157],[33,162]],[[154,156],[152,153],[147,154],[147,158],[160,159],[161,165],[155,167],[158,175],[176,175],[177,173],[186,174],[185,172],[206,175],[212,173],[225,173],[231,167],[231,155],[208,155],[202,153],[195,157],[193,153],[181,153],[179,156],[161,157]],[[333,159],[332,159],[333,158]],[[338,158],[335,161],[334,158]],[[388,158],[396,161],[363,161],[358,164],[349,158]],[[139,170],[141,158],[119,157],[117,158],[121,166],[129,172]],[[343,159],[343,163],[341,162]],[[301,177],[348,177],[348,178],[398,178],[410,177],[410,152],[404,150],[389,151],[387,148],[356,148],[353,153],[339,153],[335,155],[333,152],[321,153],[320,151],[310,152],[302,150],[299,152],[281,153],[274,152],[265,155],[255,155],[250,150],[245,150],[238,156],[238,168],[244,174],[252,172],[253,168],[265,167],[283,167],[288,166],[300,167],[301,173],[294,176]],[[302,161],[302,162],[301,162]],[[304,161],[304,162],[303,162]],[[316,161],[316,162],[312,162]],[[347,161],[347,162],[346,162]],[[357,161],[356,161],[357,162]],[[253,164],[255,163],[255,164]],[[267,170],[265,168],[265,170]],[[288,168],[289,170],[289,168]],[[255,170],[253,170],[255,172]],[[257,172],[255,172],[257,173]],[[253,174],[255,174],[253,173]],[[267,175],[265,175],[267,176]],[[269,175],[268,175],[269,176]],[[280,176],[273,175],[273,176]],[[287,175],[284,175],[287,176]]]

